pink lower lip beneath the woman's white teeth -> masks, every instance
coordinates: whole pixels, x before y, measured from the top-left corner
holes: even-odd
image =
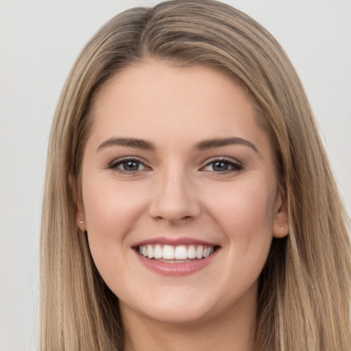
[[[138,252],[135,253],[141,263],[143,263],[147,269],[150,269],[157,274],[161,274],[162,276],[189,276],[190,274],[193,274],[207,267],[213,261],[215,256],[217,256],[218,252],[219,250],[215,250],[213,254],[210,254],[210,256],[206,258],[202,258],[202,260],[185,263],[165,263],[146,258],[141,254],[138,254]]]

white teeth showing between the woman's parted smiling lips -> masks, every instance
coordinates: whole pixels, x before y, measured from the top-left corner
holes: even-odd
[[[150,260],[164,263],[187,263],[199,261],[212,255],[218,246],[209,245],[139,245],[136,252]]]

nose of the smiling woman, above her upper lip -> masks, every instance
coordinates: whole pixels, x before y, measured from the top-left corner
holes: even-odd
[[[152,218],[176,225],[199,217],[201,206],[195,187],[184,170],[160,173],[155,182],[156,191],[149,206]]]

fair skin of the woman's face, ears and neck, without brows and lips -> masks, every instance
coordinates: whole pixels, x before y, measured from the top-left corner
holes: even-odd
[[[204,66],[136,64],[99,91],[77,221],[119,297],[125,350],[252,350],[258,276],[272,238],[287,234],[272,147],[257,118],[241,87]],[[196,148],[233,137],[254,146]],[[111,138],[154,149],[106,145]],[[123,170],[125,157],[140,161],[136,171]],[[224,165],[215,169],[218,159]],[[132,248],[158,237],[219,250],[193,274],[163,276]]]

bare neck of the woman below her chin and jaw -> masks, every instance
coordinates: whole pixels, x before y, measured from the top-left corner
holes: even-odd
[[[185,324],[162,323],[128,311],[128,318],[123,317],[124,351],[252,351],[254,307],[250,313],[228,311],[217,319]]]

